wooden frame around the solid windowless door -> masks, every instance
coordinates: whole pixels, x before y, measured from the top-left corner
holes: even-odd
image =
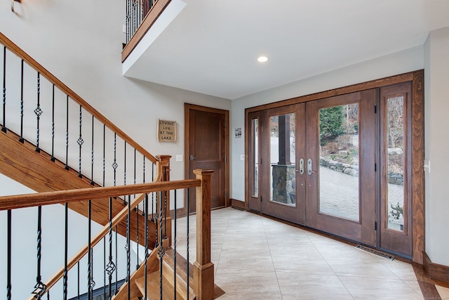
[[[188,179],[189,169],[190,169],[190,160],[187,157],[187,153],[189,153],[189,141],[190,141],[190,111],[191,110],[199,110],[201,112],[213,112],[217,114],[225,115],[225,157],[227,161],[225,163],[225,206],[229,207],[229,110],[220,110],[218,108],[206,107],[201,105],[194,105],[189,103],[184,103],[184,176],[185,179]],[[184,197],[184,207],[179,209],[180,214],[187,214],[187,192]]]

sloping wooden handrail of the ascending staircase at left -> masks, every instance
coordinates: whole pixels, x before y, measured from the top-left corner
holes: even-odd
[[[147,159],[151,160],[153,163],[157,162],[156,157],[151,155],[145,148],[143,148],[141,145],[136,143],[130,136],[128,136],[126,133],[121,131],[119,127],[115,126],[109,119],[107,119],[105,116],[100,114],[95,108],[93,108],[90,104],[88,104],[83,98],[81,98],[77,93],[72,91],[72,89],[69,89],[68,86],[62,83],[58,78],[56,78],[51,72],[48,72],[45,67],[40,65],[36,60],[34,60],[31,56],[29,56],[25,51],[22,51],[22,49],[13,43],[10,39],[8,39],[4,34],[0,32],[0,41],[6,48],[9,49],[9,51],[15,53],[16,56],[20,57],[22,60],[24,60],[28,65],[34,68],[37,72],[39,72],[43,77],[46,77],[48,81],[50,81],[52,84],[55,84],[55,86],[58,87],[61,91],[63,91],[69,98],[72,98],[76,103],[81,105],[84,110],[87,112],[90,112],[91,115],[93,115],[98,121],[102,122],[102,124],[105,124],[109,129],[111,129],[113,132],[117,134],[120,138],[123,139],[123,141],[126,141],[128,145],[132,146],[136,150],[138,150],[142,155],[147,157]]]

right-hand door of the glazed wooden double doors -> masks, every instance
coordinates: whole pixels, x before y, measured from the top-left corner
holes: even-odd
[[[307,226],[376,245],[375,89],[307,103]]]

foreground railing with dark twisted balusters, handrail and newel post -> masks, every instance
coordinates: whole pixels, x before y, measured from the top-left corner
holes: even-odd
[[[29,195],[15,195],[0,197],[0,212],[7,211],[6,222],[6,241],[2,241],[2,244],[6,245],[7,252],[7,293],[6,299],[13,299],[12,294],[14,291],[17,294],[17,290],[29,291],[29,300],[32,299],[70,299],[73,297],[82,296],[84,293],[87,295],[87,299],[93,299],[95,289],[100,291],[100,294],[105,295],[104,299],[111,299],[114,294],[119,296],[118,299],[135,299],[137,296],[144,296],[144,299],[149,299],[149,287],[145,283],[145,288],[141,290],[140,295],[135,294],[135,288],[132,288],[133,280],[135,280],[135,274],[140,274],[142,278],[149,278],[149,273],[154,269],[149,268],[148,263],[150,255],[157,256],[156,260],[159,260],[159,273],[156,276],[156,285],[159,285],[157,289],[157,298],[162,299],[163,289],[168,288],[163,284],[163,260],[165,259],[166,250],[168,249],[170,242],[172,243],[174,253],[174,274],[169,275],[168,278],[177,277],[177,267],[179,263],[176,263],[176,257],[179,253],[186,257],[185,263],[187,266],[186,273],[193,273],[193,282],[189,282],[189,276],[187,275],[187,294],[183,296],[183,299],[189,299],[189,289],[192,289],[196,299],[213,299],[214,284],[213,284],[213,263],[210,262],[210,176],[213,171],[207,170],[195,170],[196,179],[184,180],[184,181],[170,181],[159,183],[141,183],[135,185],[121,185],[107,188],[87,188],[78,190],[65,190],[50,193],[38,193]],[[180,224],[176,217],[176,201],[175,204],[175,216],[173,220],[173,241],[167,241],[166,234],[163,233],[163,225],[165,214],[167,213],[164,208],[165,193],[172,191],[176,199],[177,192],[182,190],[182,193],[188,193],[189,188],[196,188],[196,261],[192,265],[189,264],[189,217],[185,218],[185,223]],[[135,195],[133,200],[128,201],[125,208],[120,211],[116,216],[112,216],[112,198],[113,197],[131,197]],[[92,221],[91,221],[91,204],[95,201],[101,201],[102,198],[109,197],[109,222],[105,225],[95,236],[93,236]],[[154,198],[156,202],[156,214],[152,215],[149,212],[150,199]],[[78,201],[88,201],[88,216],[86,219],[88,223],[87,229],[87,244],[82,247],[72,259],[69,259],[69,244],[71,239],[80,235],[79,230],[69,230],[69,225],[72,223],[71,217],[68,214],[68,204]],[[45,226],[43,221],[48,221],[43,218],[43,209],[48,204],[64,204],[64,216],[60,219],[62,221],[60,226],[64,228],[62,237],[57,240],[55,244],[44,244],[44,240],[48,240],[48,236],[58,235],[58,227]],[[14,219],[20,218],[21,209],[24,208],[36,209],[36,227],[31,224],[24,224],[15,221]],[[59,206],[58,206],[59,207]],[[142,210],[139,209],[142,208]],[[133,244],[130,240],[130,231],[126,239],[119,239],[114,236],[114,227],[122,220],[126,218],[128,224],[127,228],[130,228],[130,211],[138,209],[140,214],[145,216],[145,241],[149,240],[149,235],[156,235],[156,247],[153,251],[149,249],[149,244],[145,242],[144,246]],[[29,215],[27,215],[29,217]],[[149,232],[149,217],[154,218],[156,227],[155,232]],[[53,216],[55,219],[59,219],[58,216]],[[81,224],[76,223],[74,226],[81,227]],[[16,230],[33,230],[36,228],[36,261],[34,266],[19,263],[20,258],[15,258],[15,249],[13,246],[13,239],[17,238],[14,235]],[[169,226],[171,228],[171,226]],[[177,230],[179,227],[184,227],[186,236],[177,237]],[[186,229],[187,227],[187,229]],[[23,239],[23,237],[20,237]],[[177,252],[177,240],[187,241],[187,250],[185,253]],[[103,241],[101,243],[101,241]],[[22,241],[22,244],[27,244],[27,241]],[[131,256],[132,247],[137,247],[137,255]],[[27,247],[30,252],[31,247]],[[119,249],[119,250],[118,250]],[[123,252],[123,249],[125,251]],[[139,255],[139,249],[141,256]],[[62,253],[57,255],[54,253]],[[50,254],[48,254],[50,253]],[[95,255],[94,255],[95,254]],[[134,252],[135,254],[135,252]],[[53,256],[55,257],[53,257]],[[49,257],[50,256],[50,257]],[[55,261],[56,257],[62,257],[60,261]],[[95,257],[95,259],[94,259]],[[44,262],[43,259],[46,259]],[[180,258],[179,258],[180,259]],[[51,263],[49,263],[51,262]],[[134,264],[135,263],[135,264]],[[152,261],[154,264],[154,260]],[[57,269],[58,265],[62,268]],[[133,272],[133,266],[136,266],[135,272]],[[192,268],[192,270],[189,270]],[[13,270],[15,270],[15,278],[13,278]],[[36,270],[36,284],[33,286],[24,286],[25,283],[21,279],[21,274],[30,273],[32,270]],[[55,272],[55,275],[45,278],[44,273],[49,271]],[[18,274],[18,276],[17,276]],[[80,276],[81,274],[81,276]],[[123,279],[123,280],[122,280]],[[125,283],[123,283],[123,281]],[[59,284],[59,286],[58,286]],[[122,287],[120,285],[123,284]],[[178,283],[181,285],[181,283]],[[173,282],[174,294],[179,293],[181,290],[177,287],[176,279]],[[51,294],[51,295],[50,295]],[[80,295],[81,294],[81,295]],[[159,295],[160,294],[160,295]],[[170,294],[170,293],[168,293]],[[124,296],[123,296],[124,295]],[[153,295],[153,299],[155,295]],[[109,298],[107,298],[109,297]],[[17,298],[15,298],[17,299]],[[193,297],[192,297],[193,299]]]

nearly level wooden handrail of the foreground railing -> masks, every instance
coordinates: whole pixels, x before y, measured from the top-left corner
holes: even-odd
[[[36,207],[48,204],[64,204],[83,200],[98,200],[106,197],[153,193],[163,190],[194,188],[201,185],[200,179],[181,181],[162,181],[154,183],[138,183],[133,185],[116,185],[100,188],[80,188],[78,190],[58,190],[55,192],[13,195],[0,197],[0,211]]]

